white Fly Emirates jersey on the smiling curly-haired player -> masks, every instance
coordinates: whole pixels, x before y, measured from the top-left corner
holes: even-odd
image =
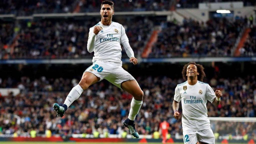
[[[186,130],[203,130],[210,128],[206,103],[216,98],[212,88],[201,81],[195,85],[188,82],[178,84],[175,88],[174,100],[182,104],[182,128]]]

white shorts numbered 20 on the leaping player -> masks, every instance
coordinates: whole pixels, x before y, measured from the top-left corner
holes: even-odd
[[[100,81],[106,79],[119,88],[124,81],[135,80],[130,73],[122,68],[122,64],[112,61],[94,61],[84,72],[93,73],[100,78]]]

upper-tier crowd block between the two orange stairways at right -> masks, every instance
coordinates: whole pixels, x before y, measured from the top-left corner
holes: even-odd
[[[150,56],[231,56],[237,38],[248,22],[247,17],[210,19],[206,23],[185,18],[182,25],[163,22]]]

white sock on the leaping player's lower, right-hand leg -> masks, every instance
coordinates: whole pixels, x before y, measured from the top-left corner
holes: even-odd
[[[139,113],[141,105],[142,105],[142,100],[140,101],[140,100],[136,100],[136,99],[132,98],[131,109],[130,109],[129,116],[128,116],[128,118],[130,120],[135,120],[135,117]]]

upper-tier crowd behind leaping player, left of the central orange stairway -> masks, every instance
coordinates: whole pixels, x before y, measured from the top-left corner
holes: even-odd
[[[92,57],[87,51],[89,28],[97,20],[21,21],[1,26],[0,59]],[[153,22],[147,18],[121,19],[135,54],[141,54]],[[14,42],[13,45],[10,42]],[[1,48],[1,44],[3,48]],[[125,51],[123,51],[125,53]]]

